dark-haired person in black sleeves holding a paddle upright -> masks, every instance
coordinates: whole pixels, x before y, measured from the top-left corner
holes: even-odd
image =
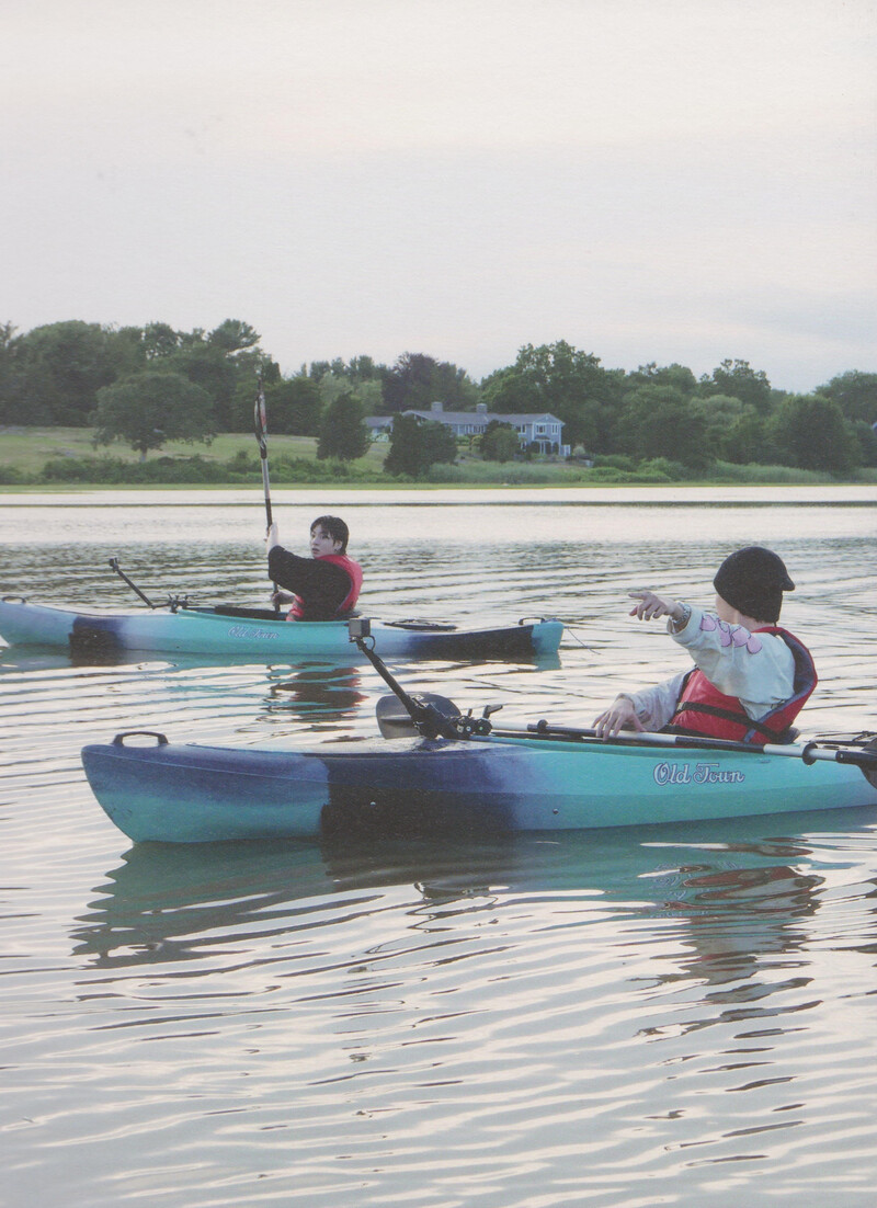
[[[280,545],[277,523],[268,529],[268,577],[277,588],[272,603],[290,604],[288,621],[338,621],[349,616],[362,586],[362,568],[348,557],[349,530],[339,516],[318,516],[310,525],[310,557]]]

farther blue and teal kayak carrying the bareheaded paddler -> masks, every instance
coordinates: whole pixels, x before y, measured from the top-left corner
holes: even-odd
[[[460,629],[435,621],[373,621],[391,658],[533,658],[556,655],[563,623],[524,618],[504,628]],[[277,658],[343,657],[358,662],[347,621],[289,622],[269,609],[155,608],[77,612],[27,600],[0,600],[0,637],[10,645],[65,646],[77,654],[127,650]]]

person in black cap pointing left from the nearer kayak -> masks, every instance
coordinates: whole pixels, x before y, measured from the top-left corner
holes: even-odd
[[[667,632],[695,667],[655,687],[618,693],[594,720],[598,737],[668,728],[738,742],[789,741],[817,686],[809,651],[777,625],[783,592],[795,583],[778,554],[750,545],[722,562],[713,586],[714,612],[652,591],[629,592],[637,600],[631,616],[666,616]]]

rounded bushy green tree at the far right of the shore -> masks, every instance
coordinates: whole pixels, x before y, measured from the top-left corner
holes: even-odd
[[[859,442],[834,399],[792,395],[771,417],[768,431],[786,465],[846,475],[859,464]]]

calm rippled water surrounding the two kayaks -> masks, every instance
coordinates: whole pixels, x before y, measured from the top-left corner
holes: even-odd
[[[333,503],[337,506],[331,506]],[[364,612],[557,615],[561,657],[400,667],[503,719],[589,722],[678,670],[629,587],[709,602],[760,541],[815,655],[807,728],[877,730],[877,493],[275,493],[341,511]],[[260,603],[259,499],[1,496],[0,593]],[[79,749],[365,737],[368,668],[74,666],[0,650],[0,1203],[640,1208],[873,1203],[877,818],[550,842],[132,846]]]

